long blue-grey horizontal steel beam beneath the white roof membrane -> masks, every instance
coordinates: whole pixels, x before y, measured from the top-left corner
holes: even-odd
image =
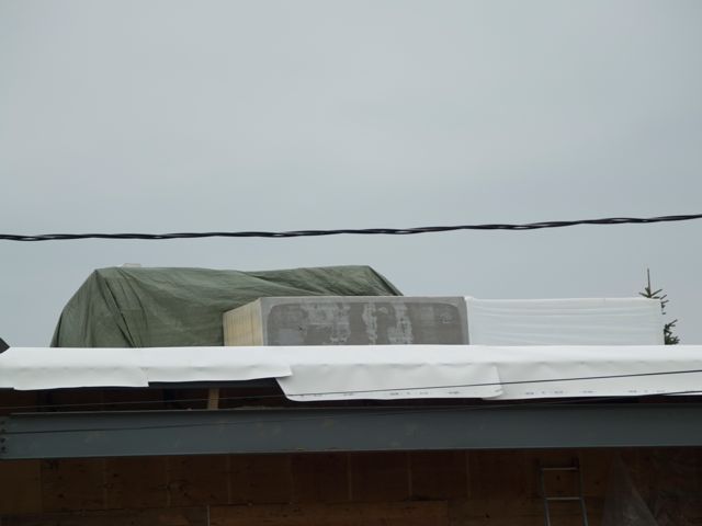
[[[702,404],[522,404],[27,413],[0,458],[702,446]]]

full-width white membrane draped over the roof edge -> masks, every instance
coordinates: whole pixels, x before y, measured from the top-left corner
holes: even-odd
[[[293,400],[619,397],[702,391],[702,345],[36,348],[0,387],[145,387],[278,378]]]

